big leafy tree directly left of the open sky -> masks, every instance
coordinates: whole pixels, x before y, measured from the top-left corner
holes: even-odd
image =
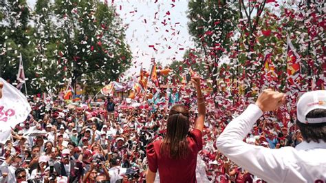
[[[61,75],[72,78],[72,85],[101,85],[130,67],[131,52],[124,43],[121,19],[113,7],[99,1],[57,0],[59,25],[56,36],[58,67]]]

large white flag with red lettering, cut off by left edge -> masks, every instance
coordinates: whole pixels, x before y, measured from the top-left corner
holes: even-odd
[[[0,78],[0,81],[3,83],[0,99],[0,132],[3,132],[26,120],[32,109],[28,100],[16,87],[3,78]]]

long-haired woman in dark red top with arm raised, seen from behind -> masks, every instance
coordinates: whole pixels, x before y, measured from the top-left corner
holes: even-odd
[[[165,138],[146,148],[149,162],[146,182],[154,182],[157,169],[160,182],[196,182],[197,153],[203,146],[206,107],[199,77],[193,76],[191,81],[197,91],[198,117],[195,128],[189,131],[191,124],[186,106],[174,105],[171,108]]]

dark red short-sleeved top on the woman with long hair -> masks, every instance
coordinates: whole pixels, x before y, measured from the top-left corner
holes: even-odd
[[[173,160],[160,155],[162,140],[149,144],[146,148],[149,170],[160,173],[160,182],[196,182],[197,153],[202,150],[202,131],[192,129],[188,133],[189,153],[187,158]]]

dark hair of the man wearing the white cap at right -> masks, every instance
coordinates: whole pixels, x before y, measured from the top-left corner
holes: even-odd
[[[326,109],[314,109],[310,111],[306,118],[325,118]],[[301,135],[305,141],[314,141],[319,143],[320,140],[326,142],[326,122],[305,124],[296,120],[296,125],[301,131]]]

